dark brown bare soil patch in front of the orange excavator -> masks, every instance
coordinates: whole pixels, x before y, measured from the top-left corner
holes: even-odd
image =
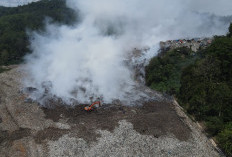
[[[79,129],[78,136],[87,141],[96,140],[96,129],[113,131],[120,120],[131,122],[134,129],[144,135],[159,138],[174,135],[181,141],[190,138],[190,129],[177,116],[168,102],[146,102],[141,106],[104,105],[91,112],[84,110],[85,105],[68,108],[56,106],[43,108],[46,118],[58,122],[68,118],[68,123]]]

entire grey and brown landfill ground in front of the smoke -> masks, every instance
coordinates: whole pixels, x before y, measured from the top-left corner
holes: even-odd
[[[24,101],[22,75],[0,74],[0,157],[219,156],[178,104],[42,108]]]

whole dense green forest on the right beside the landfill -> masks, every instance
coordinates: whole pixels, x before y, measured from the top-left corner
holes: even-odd
[[[146,84],[174,95],[184,109],[232,156],[232,24],[197,53],[187,48],[163,52],[146,67]]]

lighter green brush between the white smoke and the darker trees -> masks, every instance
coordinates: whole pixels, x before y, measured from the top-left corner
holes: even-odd
[[[179,93],[182,69],[199,57],[200,53],[185,47],[162,52],[146,67],[146,85],[168,94]]]

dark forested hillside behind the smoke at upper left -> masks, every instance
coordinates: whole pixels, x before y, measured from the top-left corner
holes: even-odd
[[[0,65],[15,64],[30,53],[27,31],[43,31],[45,19],[72,24],[77,17],[65,0],[42,0],[25,6],[0,7]]]

